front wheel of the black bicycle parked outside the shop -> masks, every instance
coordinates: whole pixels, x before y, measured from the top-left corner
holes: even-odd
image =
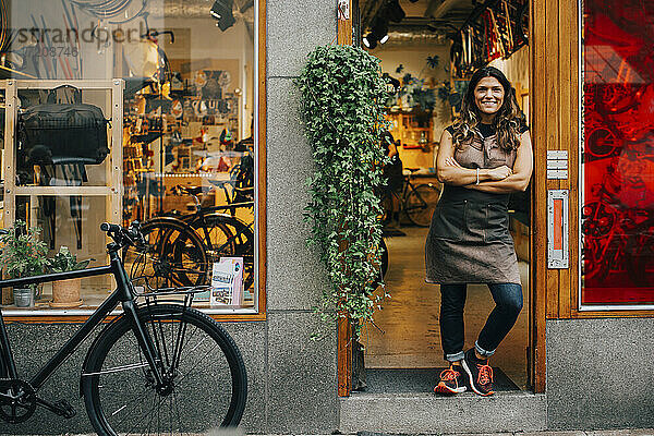
[[[98,435],[201,433],[235,426],[247,396],[241,353],[207,315],[181,305],[138,310],[166,379],[158,389],[131,320],[108,326],[82,374],[84,403]]]

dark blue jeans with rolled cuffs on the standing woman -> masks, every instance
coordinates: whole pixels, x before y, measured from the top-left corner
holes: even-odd
[[[499,342],[508,335],[522,310],[522,287],[517,283],[488,284],[495,308],[475,342],[477,352],[486,358],[495,353]],[[465,283],[440,284],[440,343],[445,360],[463,359],[464,330],[463,306],[468,286]]]

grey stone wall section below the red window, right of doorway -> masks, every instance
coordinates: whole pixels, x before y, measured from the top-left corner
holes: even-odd
[[[654,319],[547,322],[547,424],[651,427]]]

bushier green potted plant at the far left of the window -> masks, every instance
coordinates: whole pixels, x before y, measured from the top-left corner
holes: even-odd
[[[27,229],[25,221],[16,220],[7,229],[8,233],[0,235],[2,254],[0,264],[9,278],[39,276],[45,272],[48,258],[47,244],[39,239],[40,228]],[[14,304],[19,307],[34,305],[37,284],[14,288]]]

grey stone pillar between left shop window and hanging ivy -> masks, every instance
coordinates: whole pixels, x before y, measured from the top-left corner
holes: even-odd
[[[336,334],[311,308],[327,286],[302,220],[313,172],[293,80],[306,55],[336,38],[336,0],[267,2],[267,433],[338,427]],[[326,339],[312,341],[322,331]]]

